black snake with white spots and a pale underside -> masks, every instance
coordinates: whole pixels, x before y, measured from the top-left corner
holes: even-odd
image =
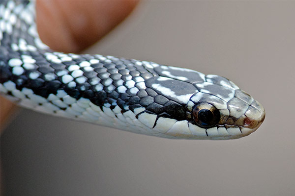
[[[28,0],[0,1],[0,92],[38,112],[170,139],[241,138],[265,119],[258,101],[219,75],[53,51]]]

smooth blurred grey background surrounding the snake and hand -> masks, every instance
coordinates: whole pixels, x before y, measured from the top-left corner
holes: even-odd
[[[294,196],[295,1],[143,1],[87,52],[225,76],[266,108],[248,137],[169,140],[22,110],[8,196]]]

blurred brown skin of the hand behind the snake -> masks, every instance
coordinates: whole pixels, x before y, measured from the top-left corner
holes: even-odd
[[[138,0],[37,0],[36,23],[51,49],[79,53],[122,22]],[[0,97],[0,130],[17,107]]]

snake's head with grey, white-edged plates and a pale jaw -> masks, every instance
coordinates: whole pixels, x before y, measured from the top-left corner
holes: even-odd
[[[150,104],[138,120],[149,123],[159,137],[236,139],[254,132],[264,121],[263,106],[225,77],[167,66],[155,71],[159,76],[145,83],[158,94],[157,104]]]

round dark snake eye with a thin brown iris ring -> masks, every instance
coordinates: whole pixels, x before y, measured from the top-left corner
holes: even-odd
[[[209,103],[200,103],[196,105],[193,108],[192,114],[196,124],[202,128],[213,127],[220,120],[219,110]]]

